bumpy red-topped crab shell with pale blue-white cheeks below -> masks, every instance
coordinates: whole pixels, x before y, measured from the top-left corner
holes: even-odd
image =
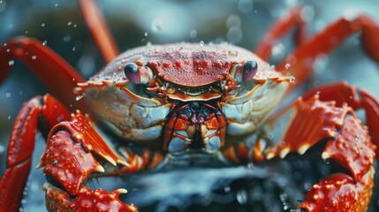
[[[254,60],[258,69],[253,79],[244,82],[238,68],[248,60]],[[128,63],[148,66],[154,70],[155,79],[174,87],[206,87],[231,79],[239,88],[232,93],[175,92],[152,97],[146,95],[143,86],[126,79],[124,67]],[[227,133],[251,133],[268,117],[292,81],[291,76],[276,72],[246,49],[229,44],[177,43],[130,49],[86,83],[80,83],[74,92],[85,95],[95,114],[118,135],[143,142],[161,138],[173,101],[216,99],[226,117]]]

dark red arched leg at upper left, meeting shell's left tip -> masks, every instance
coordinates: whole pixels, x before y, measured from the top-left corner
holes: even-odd
[[[0,82],[11,72],[11,61],[14,59],[27,64],[66,107],[87,112],[85,102],[76,101],[76,95],[72,93],[77,83],[85,80],[53,50],[28,37],[19,37],[4,43],[0,46]]]

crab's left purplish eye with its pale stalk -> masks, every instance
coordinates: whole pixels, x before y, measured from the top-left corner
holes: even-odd
[[[148,66],[127,63],[124,66],[124,72],[126,78],[134,84],[146,85],[150,79],[153,79],[153,71]]]

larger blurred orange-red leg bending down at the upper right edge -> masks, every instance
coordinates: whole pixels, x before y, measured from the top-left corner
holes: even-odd
[[[289,91],[307,79],[313,70],[313,64],[318,56],[329,54],[350,35],[361,32],[361,41],[366,53],[379,63],[379,26],[365,15],[356,19],[338,19],[321,33],[302,43],[298,49],[277,65],[278,72],[284,72],[295,77]],[[322,43],[322,44],[320,44]]]

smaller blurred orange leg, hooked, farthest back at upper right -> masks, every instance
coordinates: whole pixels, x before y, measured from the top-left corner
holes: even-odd
[[[269,28],[269,31],[263,36],[262,41],[259,42],[254,52],[257,56],[263,60],[268,61],[271,56],[272,46],[283,37],[288,34],[289,31],[295,27],[295,42],[300,45],[306,39],[306,20],[301,16],[301,6],[296,6],[292,10],[288,11],[281,18]]]

